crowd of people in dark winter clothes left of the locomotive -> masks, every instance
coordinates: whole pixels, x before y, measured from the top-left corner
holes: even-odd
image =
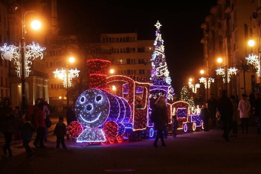
[[[66,113],[67,125],[73,121],[77,121],[74,110],[70,106]],[[54,134],[57,137],[57,146],[62,144],[62,147],[66,149],[64,143],[64,137],[66,133],[66,125],[63,123],[64,118],[60,117],[59,122],[55,126]],[[42,98],[38,98],[27,107],[26,111],[22,111],[20,106],[12,108],[12,102],[9,97],[3,98],[0,107],[0,131],[4,134],[5,145],[2,147],[5,157],[13,157],[10,143],[14,137],[15,143],[23,142],[23,147],[26,150],[27,158],[34,156],[29,142],[32,140],[33,133],[36,133],[36,137],[33,141],[33,145],[36,148],[46,148],[44,142],[47,141],[48,128],[50,122],[50,105]],[[7,154],[8,151],[8,154]]]

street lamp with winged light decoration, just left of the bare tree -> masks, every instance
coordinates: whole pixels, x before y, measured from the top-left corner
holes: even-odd
[[[218,63],[221,63],[222,61],[223,61],[223,59],[221,57],[217,58],[217,62]],[[230,81],[230,77],[233,74],[236,75],[237,69],[235,67],[227,68],[226,59],[225,59],[223,67],[224,68],[221,68],[221,67],[217,68],[216,72],[217,72],[217,75],[221,75],[222,76],[223,82],[225,83],[225,90],[227,90],[228,89],[228,83]]]

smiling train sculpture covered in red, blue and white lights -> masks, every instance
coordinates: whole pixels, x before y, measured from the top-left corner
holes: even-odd
[[[154,137],[153,123],[149,120],[153,98],[148,79],[132,75],[113,75],[106,78],[108,86],[115,86],[115,95],[102,89],[88,89],[81,93],[75,104],[78,122],[68,126],[72,137],[77,142],[114,143],[123,141],[125,132],[147,132]],[[135,107],[135,100],[140,99],[143,108]],[[203,129],[199,108],[189,110],[184,101],[167,103],[169,125],[172,116],[177,115],[179,130],[184,132]],[[74,133],[75,127],[78,133]]]

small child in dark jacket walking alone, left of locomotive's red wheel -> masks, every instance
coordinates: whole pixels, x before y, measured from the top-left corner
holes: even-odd
[[[55,126],[54,135],[56,135],[56,149],[59,149],[60,143],[63,149],[67,149],[64,143],[64,137],[66,136],[66,125],[64,124],[63,117],[59,117],[59,122]]]

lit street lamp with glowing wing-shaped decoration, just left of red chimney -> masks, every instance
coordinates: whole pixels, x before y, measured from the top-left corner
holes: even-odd
[[[66,67],[65,69],[58,70],[56,69],[53,73],[55,74],[54,77],[58,77],[63,81],[63,87],[67,90],[67,107],[69,107],[69,88],[72,86],[72,78],[79,76],[79,70],[77,68],[70,69],[68,68],[68,62],[73,63],[75,61],[74,57],[67,57],[66,52]]]

